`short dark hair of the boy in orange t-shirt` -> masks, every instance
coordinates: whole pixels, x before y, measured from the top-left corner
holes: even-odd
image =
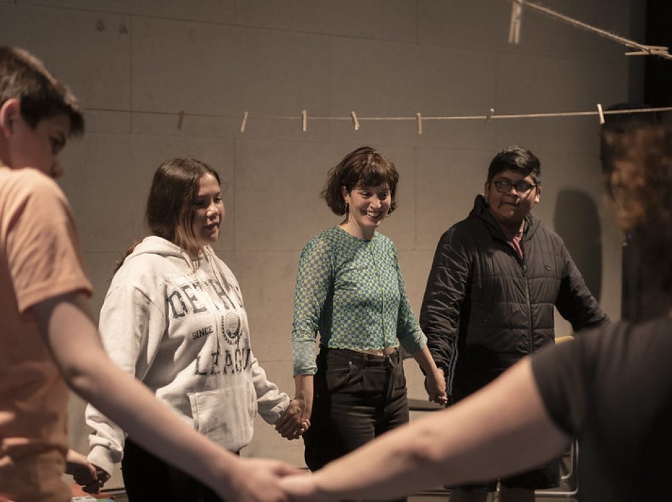
[[[0,47],[0,106],[18,98],[21,116],[30,127],[40,120],[65,115],[70,134],[84,132],[84,116],[73,93],[37,57],[23,49]]]

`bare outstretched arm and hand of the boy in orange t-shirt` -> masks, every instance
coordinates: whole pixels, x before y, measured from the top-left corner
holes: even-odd
[[[283,501],[279,462],[241,460],[184,424],[134,377],[109,361],[79,293],[48,298],[30,308],[64,379],[142,447],[175,463],[220,496],[240,501]]]

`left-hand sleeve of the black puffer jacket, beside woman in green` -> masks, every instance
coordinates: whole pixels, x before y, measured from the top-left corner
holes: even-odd
[[[457,364],[457,330],[462,303],[471,276],[470,253],[464,249],[457,227],[441,236],[420,313],[420,325],[427,335],[427,348],[436,366],[443,370],[452,393]]]

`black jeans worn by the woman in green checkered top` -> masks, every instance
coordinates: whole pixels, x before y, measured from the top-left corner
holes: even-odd
[[[315,471],[408,422],[406,378],[399,352],[389,356],[321,347],[306,465]]]

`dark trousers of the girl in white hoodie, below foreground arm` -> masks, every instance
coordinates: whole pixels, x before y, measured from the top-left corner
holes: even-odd
[[[126,439],[121,460],[129,502],[220,502],[209,487]]]

